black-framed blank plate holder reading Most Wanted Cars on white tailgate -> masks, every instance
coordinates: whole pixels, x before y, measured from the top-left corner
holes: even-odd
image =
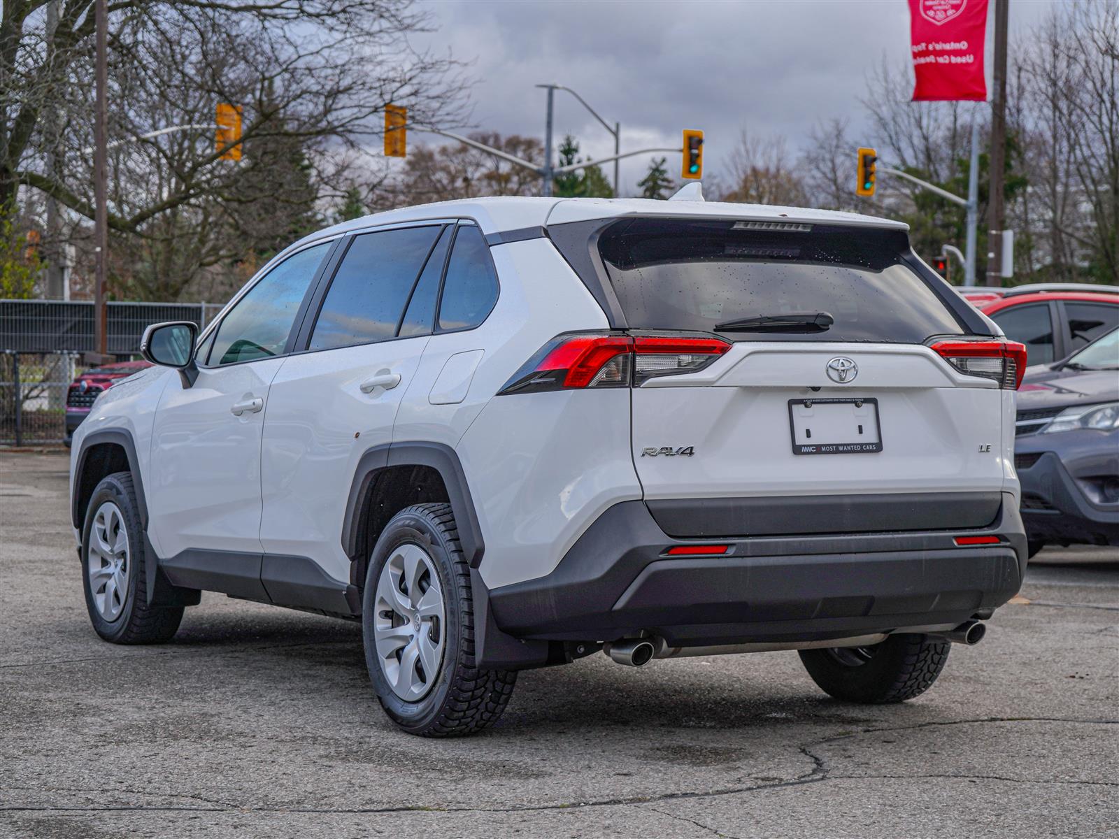
[[[789,399],[793,454],[873,454],[882,451],[878,400],[869,397]]]

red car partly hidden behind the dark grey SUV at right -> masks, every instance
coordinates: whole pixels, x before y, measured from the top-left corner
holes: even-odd
[[[1007,338],[1026,345],[1027,364],[1052,364],[1119,326],[1119,287],[1099,287],[1065,291],[1019,286],[977,305]]]

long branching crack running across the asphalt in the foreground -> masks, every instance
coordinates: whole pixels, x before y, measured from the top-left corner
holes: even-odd
[[[708,790],[706,792],[669,792],[662,795],[632,795],[627,798],[614,798],[614,799],[599,799],[592,801],[581,801],[581,802],[562,802],[557,804],[536,804],[526,807],[430,807],[422,804],[412,804],[403,807],[370,807],[370,808],[308,808],[308,807],[245,807],[226,802],[222,803],[222,807],[158,807],[158,805],[107,805],[107,807],[31,807],[31,805],[4,805],[0,804],[0,813],[3,812],[258,812],[258,813],[293,813],[293,814],[376,814],[376,813],[422,813],[422,812],[435,812],[435,813],[518,813],[518,812],[544,812],[549,810],[572,810],[586,807],[620,807],[620,805],[641,805],[641,804],[652,804],[662,801],[683,801],[689,799],[712,799],[722,798],[726,795],[735,795],[747,792],[756,792],[760,790],[781,790],[789,789],[792,786],[802,786],[806,784],[821,783],[824,781],[838,781],[838,780],[859,780],[859,779],[880,779],[880,780],[897,780],[904,781],[906,779],[946,779],[946,780],[989,780],[989,781],[1004,781],[1009,783],[1029,783],[1029,784],[1084,784],[1093,786],[1119,786],[1119,783],[1106,782],[1106,781],[1064,781],[1064,780],[1042,780],[1042,781],[1031,781],[1028,779],[1018,777],[1005,777],[998,775],[837,775],[831,772],[831,767],[828,761],[822,755],[816,754],[812,748],[816,746],[822,746],[830,743],[835,743],[841,739],[848,739],[850,737],[856,737],[864,734],[876,734],[886,732],[903,732],[903,730],[919,730],[921,728],[931,728],[935,726],[952,726],[952,725],[984,725],[990,723],[1069,723],[1073,725],[1119,725],[1117,719],[1076,719],[1072,717],[981,717],[976,719],[948,719],[948,720],[930,720],[925,723],[915,723],[913,725],[906,726],[886,726],[881,728],[862,728],[856,732],[841,732],[839,734],[830,735],[828,737],[822,737],[819,739],[809,741],[808,743],[798,746],[798,751],[812,761],[811,771],[798,775],[797,777],[790,779],[788,781],[779,781],[777,783],[762,783],[752,784],[744,786],[732,786],[720,790]],[[15,789],[15,788],[10,788]],[[47,792],[68,792],[70,790],[47,790]],[[94,790],[96,792],[97,790]],[[105,792],[129,792],[126,790],[117,791],[105,791]],[[156,795],[159,793],[140,793],[148,795]],[[175,795],[176,798],[195,798],[199,801],[210,801],[201,796],[192,795]],[[683,818],[676,817],[670,813],[664,813],[657,808],[649,808],[659,812],[664,816],[671,816],[671,818]],[[690,821],[689,819],[684,819],[685,821]],[[708,828],[704,824],[693,822],[696,827],[711,830],[716,832],[713,828]],[[721,835],[720,835],[721,836]]]

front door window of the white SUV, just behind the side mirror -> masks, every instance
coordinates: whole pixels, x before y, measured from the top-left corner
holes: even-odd
[[[330,244],[323,242],[289,256],[250,289],[218,324],[209,364],[220,366],[281,355]]]

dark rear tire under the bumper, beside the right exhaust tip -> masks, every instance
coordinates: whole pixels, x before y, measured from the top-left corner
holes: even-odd
[[[812,681],[836,699],[882,705],[931,688],[951,645],[929,635],[897,634],[874,647],[801,650],[800,660]]]

